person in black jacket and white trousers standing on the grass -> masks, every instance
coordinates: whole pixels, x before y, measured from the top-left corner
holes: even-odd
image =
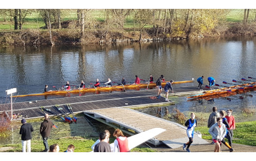
[[[27,123],[26,120],[23,118],[21,120],[22,126],[19,129],[19,134],[21,134],[21,143],[22,143],[22,152],[31,152],[31,139],[32,134],[31,132],[34,131],[32,125]]]

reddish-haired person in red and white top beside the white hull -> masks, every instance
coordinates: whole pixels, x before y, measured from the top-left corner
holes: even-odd
[[[119,128],[115,129],[113,136],[116,137],[113,152],[130,152],[128,139]]]

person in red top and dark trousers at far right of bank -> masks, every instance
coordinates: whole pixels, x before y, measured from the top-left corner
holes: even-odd
[[[227,116],[225,116],[228,120],[229,128],[227,136],[225,138],[228,139],[229,146],[232,147],[232,140],[233,140],[233,129],[235,129],[235,117],[232,116],[232,110],[227,110]]]

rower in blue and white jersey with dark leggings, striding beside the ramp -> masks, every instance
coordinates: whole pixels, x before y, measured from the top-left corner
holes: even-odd
[[[188,129],[186,129],[186,134],[189,137],[189,142],[183,144],[183,150],[186,150],[187,152],[190,152],[189,147],[191,143],[193,143],[194,129],[197,124],[198,122],[195,120],[195,113],[190,113],[190,119],[185,123],[185,126],[188,127]]]

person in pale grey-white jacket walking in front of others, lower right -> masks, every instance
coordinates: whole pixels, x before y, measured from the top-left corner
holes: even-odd
[[[213,136],[213,142],[215,143],[214,152],[220,152],[220,144],[224,139],[227,132],[225,124],[222,123],[222,118],[218,117],[217,122],[210,127],[209,133]]]

